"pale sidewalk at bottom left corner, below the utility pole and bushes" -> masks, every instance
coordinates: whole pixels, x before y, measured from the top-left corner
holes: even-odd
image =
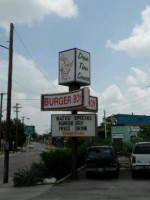
[[[0,184],[0,200],[30,200],[48,191],[52,185],[38,185],[32,187],[13,187],[12,181]]]

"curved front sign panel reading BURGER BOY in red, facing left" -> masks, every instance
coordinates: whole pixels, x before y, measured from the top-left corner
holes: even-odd
[[[41,95],[41,110],[73,110],[84,109],[89,105],[89,88],[72,92]]]

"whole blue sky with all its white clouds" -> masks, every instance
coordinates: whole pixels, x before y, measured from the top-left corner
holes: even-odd
[[[68,91],[58,84],[58,56],[72,48],[90,52],[98,125],[104,110],[106,116],[150,115],[149,0],[0,0],[0,45],[6,47],[10,23],[12,107],[19,103],[19,119],[39,134],[50,130],[51,114],[62,114],[41,111],[40,98]],[[0,47],[0,93],[7,92],[7,77],[8,50]],[[4,95],[3,120],[6,103]]]

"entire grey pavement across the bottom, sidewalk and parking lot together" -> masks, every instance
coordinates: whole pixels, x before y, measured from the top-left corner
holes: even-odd
[[[81,171],[78,180],[61,184],[14,188],[0,185],[0,200],[149,200],[150,178],[132,179],[130,169],[121,169],[119,179],[109,176],[87,179]]]

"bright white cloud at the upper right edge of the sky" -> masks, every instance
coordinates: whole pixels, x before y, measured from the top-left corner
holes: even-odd
[[[142,23],[136,25],[128,38],[113,43],[107,40],[106,46],[115,51],[125,51],[130,56],[150,56],[150,6],[141,13]]]

